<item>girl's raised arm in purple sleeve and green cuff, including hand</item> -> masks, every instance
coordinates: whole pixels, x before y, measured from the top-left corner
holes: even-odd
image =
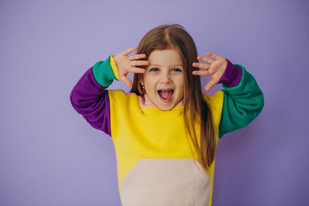
[[[136,50],[136,47],[120,52],[115,55],[114,58],[111,56],[106,61],[97,62],[84,73],[71,92],[71,103],[77,112],[80,113],[92,127],[108,135],[111,135],[109,119],[110,103],[108,90],[106,90],[106,88],[112,84],[114,79],[119,79],[118,76],[126,83],[130,83],[131,81],[126,77],[126,74],[128,72],[140,71],[140,68],[134,68],[133,66],[148,64],[148,61],[146,61],[146,63],[145,61],[136,61],[139,58],[145,57],[145,55],[127,56],[134,50]],[[111,62],[114,60],[116,64],[111,66]],[[144,69],[142,70],[144,71]]]

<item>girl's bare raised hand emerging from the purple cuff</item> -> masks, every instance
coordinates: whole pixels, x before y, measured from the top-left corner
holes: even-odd
[[[201,70],[195,70],[192,73],[200,76],[211,76],[211,80],[205,86],[205,90],[210,90],[222,77],[228,66],[228,61],[225,58],[211,52],[207,52],[206,54],[211,58],[197,56],[197,60],[203,61],[206,64],[194,62],[192,64],[193,67],[200,68]]]

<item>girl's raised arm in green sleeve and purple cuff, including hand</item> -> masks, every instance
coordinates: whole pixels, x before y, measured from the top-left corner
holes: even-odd
[[[208,64],[193,63],[195,67],[205,69],[193,71],[193,74],[211,75],[211,81],[205,89],[210,89],[216,83],[223,83],[224,102],[219,125],[219,137],[222,137],[252,122],[262,111],[264,97],[254,77],[241,65],[233,65],[210,52],[207,55],[214,59],[199,57],[199,60]]]

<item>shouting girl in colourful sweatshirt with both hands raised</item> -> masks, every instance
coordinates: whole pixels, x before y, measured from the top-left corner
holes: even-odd
[[[211,205],[217,141],[253,121],[264,99],[242,66],[207,55],[197,56],[183,27],[162,25],[138,47],[96,63],[74,87],[74,108],[114,141],[122,205]],[[202,94],[207,75],[206,90],[217,83],[225,90]],[[131,93],[107,90],[114,79]]]

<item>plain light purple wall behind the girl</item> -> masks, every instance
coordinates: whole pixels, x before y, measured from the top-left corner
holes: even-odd
[[[69,95],[95,62],[166,23],[200,55],[242,64],[265,95],[261,115],[219,141],[213,205],[309,204],[308,0],[1,0],[1,206],[120,205],[113,142]]]

